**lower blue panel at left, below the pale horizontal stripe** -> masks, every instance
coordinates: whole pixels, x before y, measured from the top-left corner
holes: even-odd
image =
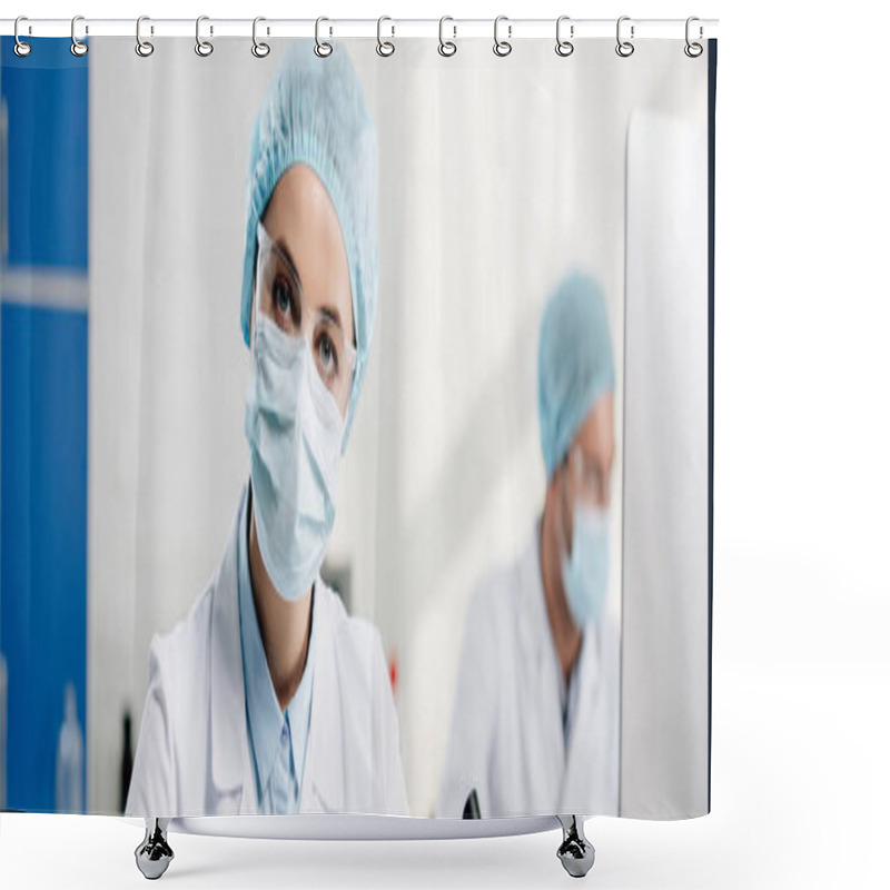
[[[86,728],[87,314],[4,304],[0,332],[7,805],[51,812],[69,681]]]

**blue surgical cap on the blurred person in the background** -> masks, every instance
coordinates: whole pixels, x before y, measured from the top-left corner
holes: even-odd
[[[612,338],[600,285],[564,278],[544,308],[537,350],[537,411],[547,479],[600,396],[615,388]]]

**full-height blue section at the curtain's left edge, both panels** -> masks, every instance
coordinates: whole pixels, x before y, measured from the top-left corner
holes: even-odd
[[[53,306],[39,283],[48,271],[57,281],[87,277],[88,57],[71,56],[68,39],[40,39],[19,59],[12,42],[0,39],[8,233],[0,288],[3,271],[33,286],[12,301],[0,293],[6,805],[51,812],[69,682],[85,742],[87,734],[88,314]]]

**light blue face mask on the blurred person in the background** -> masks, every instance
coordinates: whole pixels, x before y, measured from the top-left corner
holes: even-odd
[[[582,630],[599,624],[609,585],[609,515],[603,507],[575,502],[572,552],[561,556],[572,621]]]

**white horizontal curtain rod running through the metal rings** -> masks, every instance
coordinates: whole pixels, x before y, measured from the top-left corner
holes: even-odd
[[[378,34],[376,19],[324,18],[322,34],[325,38],[374,38]],[[615,38],[616,19],[572,19],[564,18],[562,33],[571,39],[605,37]],[[698,40],[716,37],[716,19],[700,19],[694,22],[694,37]],[[0,19],[0,34],[14,33],[14,19]],[[19,37],[71,37],[71,19],[22,18],[19,22]],[[449,39],[486,37],[494,33],[494,19],[452,19],[445,22]],[[501,21],[501,33],[508,39],[553,38],[556,19],[510,19]],[[635,39],[668,38],[682,40],[686,33],[685,19],[633,19],[624,18],[622,29],[627,33],[633,27]],[[385,18],[379,26],[385,38],[439,37],[438,19]],[[700,30],[701,29],[701,30]],[[144,38],[195,37],[195,19],[151,19],[141,24]],[[202,17],[201,34],[209,38],[240,37],[251,38],[253,19],[215,19]],[[258,33],[264,38],[315,37],[316,19],[263,19]],[[136,37],[136,19],[90,19],[77,18],[77,37]]]

